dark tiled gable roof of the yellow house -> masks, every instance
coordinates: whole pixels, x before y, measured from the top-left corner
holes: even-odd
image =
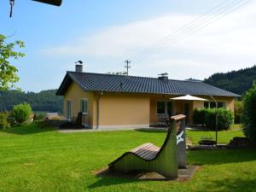
[[[239,96],[199,81],[162,80],[135,76],[102,73],[67,72],[57,95],[64,95],[71,82],[79,84],[84,91],[106,91],[123,93],[150,93],[197,96]]]

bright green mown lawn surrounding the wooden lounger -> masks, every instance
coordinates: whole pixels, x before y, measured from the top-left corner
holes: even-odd
[[[201,131],[188,131],[196,143]],[[228,143],[241,131],[221,131]],[[60,133],[25,125],[0,131],[0,191],[255,191],[256,149],[189,151],[200,165],[188,182],[96,177],[94,172],[137,145],[161,145],[164,131]]]

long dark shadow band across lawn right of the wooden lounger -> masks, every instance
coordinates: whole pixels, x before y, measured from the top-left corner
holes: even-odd
[[[256,148],[189,151],[188,160],[194,165],[220,165],[256,160]]]

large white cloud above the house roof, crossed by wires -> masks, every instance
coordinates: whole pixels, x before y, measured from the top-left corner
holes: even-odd
[[[155,76],[157,72],[167,71],[177,79],[203,79],[215,72],[253,65],[256,61],[255,9],[256,3],[251,3],[156,55],[152,56],[154,51],[150,51],[148,55],[134,58],[132,74]],[[113,26],[42,52],[54,57],[87,56],[92,62],[95,58],[95,61],[104,61],[105,66],[98,70],[99,65],[95,65],[93,70],[103,68],[107,72],[113,63],[118,68],[123,59],[147,49],[195,18],[197,15],[164,15]]]

